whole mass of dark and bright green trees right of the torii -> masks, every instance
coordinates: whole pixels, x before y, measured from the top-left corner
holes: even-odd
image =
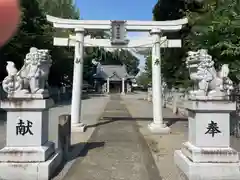
[[[178,33],[165,33],[169,39],[181,38],[182,48],[165,49],[162,53],[162,73],[169,86],[191,83],[185,66],[189,50],[206,48],[217,67],[230,64],[231,78],[240,69],[240,4],[238,0],[158,1],[153,9],[156,21],[187,17],[189,23]]]

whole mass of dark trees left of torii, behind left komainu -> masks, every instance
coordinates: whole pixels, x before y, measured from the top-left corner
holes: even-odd
[[[54,11],[52,8],[57,7],[56,3],[64,4],[64,1],[20,1],[22,16],[18,32],[0,51],[1,79],[6,75],[5,62],[14,61],[19,69],[23,64],[26,53],[29,52],[30,47],[34,46],[51,51],[53,65],[49,75],[50,85],[56,86],[71,82],[73,51],[69,48],[53,46],[53,36],[56,32],[52,25],[47,22],[46,14],[59,15],[58,13],[64,12],[65,17],[78,18],[77,11],[70,10],[73,8],[72,4],[69,4],[69,6],[65,4],[61,8],[57,8],[58,11]]]

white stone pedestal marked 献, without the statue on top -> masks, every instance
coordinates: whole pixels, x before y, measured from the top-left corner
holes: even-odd
[[[0,179],[48,180],[61,163],[62,152],[48,141],[51,99],[8,99],[6,147],[0,150]],[[58,128],[58,127],[56,127]]]

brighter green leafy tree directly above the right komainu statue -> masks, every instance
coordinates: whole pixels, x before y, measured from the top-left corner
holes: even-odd
[[[210,2],[206,5],[206,13],[195,22],[188,40],[194,49],[208,49],[218,68],[222,64],[229,64],[231,78],[238,81],[240,2],[238,0]]]

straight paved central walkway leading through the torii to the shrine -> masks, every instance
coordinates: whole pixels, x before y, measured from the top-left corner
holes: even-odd
[[[161,180],[151,152],[119,95],[112,95],[85,152],[66,180]]]

